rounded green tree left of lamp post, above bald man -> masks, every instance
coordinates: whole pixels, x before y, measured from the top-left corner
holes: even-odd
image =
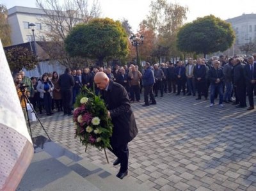
[[[93,19],[88,24],[73,27],[65,39],[65,49],[70,56],[104,60],[124,58],[128,54],[128,38],[119,21]]]

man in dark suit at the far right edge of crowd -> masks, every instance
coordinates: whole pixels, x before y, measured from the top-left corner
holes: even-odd
[[[253,103],[253,89],[256,86],[256,63],[253,63],[253,56],[247,58],[248,64],[244,66],[244,77],[247,88],[247,95],[250,103],[250,107],[247,110],[254,109]]]

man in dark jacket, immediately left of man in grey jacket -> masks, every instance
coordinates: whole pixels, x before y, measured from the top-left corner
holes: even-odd
[[[175,76],[177,80],[177,95],[180,95],[180,90],[182,89],[183,95],[186,95],[186,68],[183,66],[182,61],[178,62],[178,66],[175,68]]]

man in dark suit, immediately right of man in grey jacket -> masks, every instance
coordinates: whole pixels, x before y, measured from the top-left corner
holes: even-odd
[[[204,93],[205,100],[207,100],[207,86],[206,86],[206,75],[207,68],[205,65],[202,65],[202,59],[196,60],[196,66],[194,68],[194,77],[196,89],[198,90],[198,98],[196,100],[201,100],[201,94]]]

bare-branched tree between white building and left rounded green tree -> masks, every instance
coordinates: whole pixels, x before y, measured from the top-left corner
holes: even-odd
[[[45,35],[54,41],[63,41],[72,27],[79,23],[88,23],[100,16],[100,4],[93,0],[65,0],[62,4],[58,0],[36,0],[38,8],[45,13],[42,24],[48,27]]]

